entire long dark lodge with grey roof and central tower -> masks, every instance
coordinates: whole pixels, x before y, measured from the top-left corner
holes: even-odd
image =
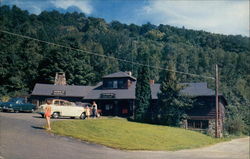
[[[66,83],[66,82],[63,82]],[[214,127],[215,92],[207,87],[207,83],[182,83],[183,95],[195,99],[194,108],[189,110],[189,119],[185,127],[189,129],[209,129]],[[150,81],[152,100],[156,103],[160,92],[160,84]],[[102,115],[123,116],[133,115],[135,101],[136,78],[131,72],[116,72],[102,78],[96,86],[75,86],[65,84],[36,84],[30,99],[37,105],[46,98],[61,98],[74,102],[96,101]],[[220,117],[223,123],[225,98],[219,96]],[[222,126],[221,126],[222,128]]]

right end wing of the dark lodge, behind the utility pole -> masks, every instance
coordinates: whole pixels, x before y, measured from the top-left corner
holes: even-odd
[[[188,129],[206,131],[214,134],[216,105],[215,91],[207,87],[207,83],[184,83],[187,85],[181,93],[194,99],[193,108],[187,111],[188,119],[184,125]],[[223,130],[225,106],[227,101],[219,94],[219,132]],[[222,134],[221,134],[222,135]]]

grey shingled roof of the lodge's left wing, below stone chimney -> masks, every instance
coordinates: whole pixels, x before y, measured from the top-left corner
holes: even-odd
[[[65,91],[65,94],[63,96],[84,97],[92,89],[92,86],[53,85],[37,83],[31,95],[56,96],[53,95],[53,91]]]

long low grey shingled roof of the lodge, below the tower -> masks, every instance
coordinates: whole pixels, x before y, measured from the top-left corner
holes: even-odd
[[[207,88],[207,83],[182,83],[185,85],[181,93],[188,96],[214,96],[214,90]],[[83,97],[84,99],[105,99],[102,94],[114,94],[115,99],[135,99],[135,86],[133,82],[128,89],[102,89],[102,82],[96,86],[53,85],[36,84],[31,95],[55,96],[53,91],[65,91],[68,97]],[[152,99],[158,99],[160,84],[151,85]]]

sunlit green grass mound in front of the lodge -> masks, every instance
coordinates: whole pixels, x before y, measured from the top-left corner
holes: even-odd
[[[52,133],[126,150],[180,150],[215,144],[198,132],[130,122],[120,118],[64,120],[52,123]]]

